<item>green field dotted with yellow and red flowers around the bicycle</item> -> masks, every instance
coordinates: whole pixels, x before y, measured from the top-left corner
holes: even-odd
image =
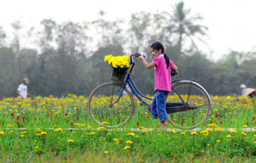
[[[90,151],[100,157],[113,153],[133,157],[140,153],[141,157],[165,160],[205,154],[225,157],[256,154],[256,101],[247,97],[211,96],[210,115],[199,130],[180,131],[168,124],[172,128],[168,132],[147,130],[155,128],[159,121],[152,119],[138,101],[134,116],[121,126],[121,131],[99,126],[90,118],[87,100],[73,94],[65,98],[2,99],[2,160],[34,160],[42,155],[48,159],[64,158],[71,151]]]

